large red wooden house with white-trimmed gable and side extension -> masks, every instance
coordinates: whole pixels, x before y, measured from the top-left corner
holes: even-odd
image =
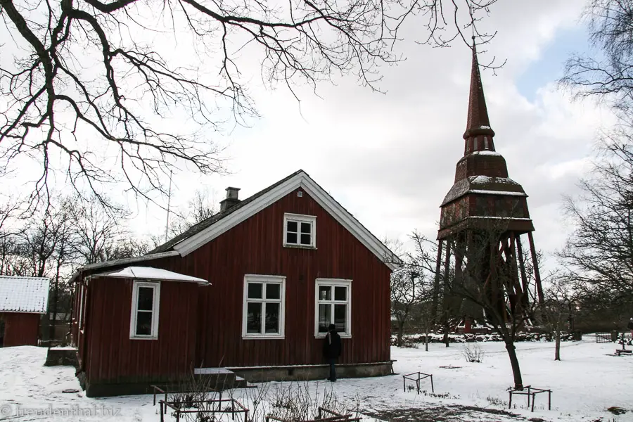
[[[342,376],[390,373],[397,257],[301,170],[245,200],[226,191],[217,215],[148,255],[75,274],[73,335],[89,395],[141,391],[194,369],[326,378],[331,322],[343,338]]]

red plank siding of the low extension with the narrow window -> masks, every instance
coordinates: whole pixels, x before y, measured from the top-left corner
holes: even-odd
[[[132,340],[132,285],[129,279],[88,283],[84,369],[91,383],[170,381],[191,373],[200,287],[161,281],[158,340]]]

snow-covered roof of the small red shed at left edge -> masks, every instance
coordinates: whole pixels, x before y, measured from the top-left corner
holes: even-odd
[[[45,314],[49,305],[49,279],[0,276],[0,312]]]

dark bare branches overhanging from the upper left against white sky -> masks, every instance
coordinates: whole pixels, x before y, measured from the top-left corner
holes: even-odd
[[[37,163],[32,201],[56,170],[103,205],[108,182],[151,199],[172,171],[224,170],[212,136],[257,116],[252,62],[293,94],[350,74],[378,89],[404,20],[422,44],[485,42],[496,1],[0,0],[0,173]]]

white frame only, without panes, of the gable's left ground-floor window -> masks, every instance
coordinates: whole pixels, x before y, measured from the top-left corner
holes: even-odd
[[[276,299],[249,299],[248,298],[248,283],[274,283],[281,285],[279,288],[279,300]],[[265,296],[265,290],[262,289],[262,296]],[[279,333],[247,333],[246,323],[248,318],[246,316],[246,309],[249,302],[275,302],[279,303]],[[264,306],[262,306],[262,316],[265,315]],[[265,324],[265,316],[262,318],[262,326]],[[242,338],[245,340],[257,340],[257,339],[280,339],[286,338],[286,276],[266,276],[262,274],[245,274],[244,275],[244,293],[242,300]]]

